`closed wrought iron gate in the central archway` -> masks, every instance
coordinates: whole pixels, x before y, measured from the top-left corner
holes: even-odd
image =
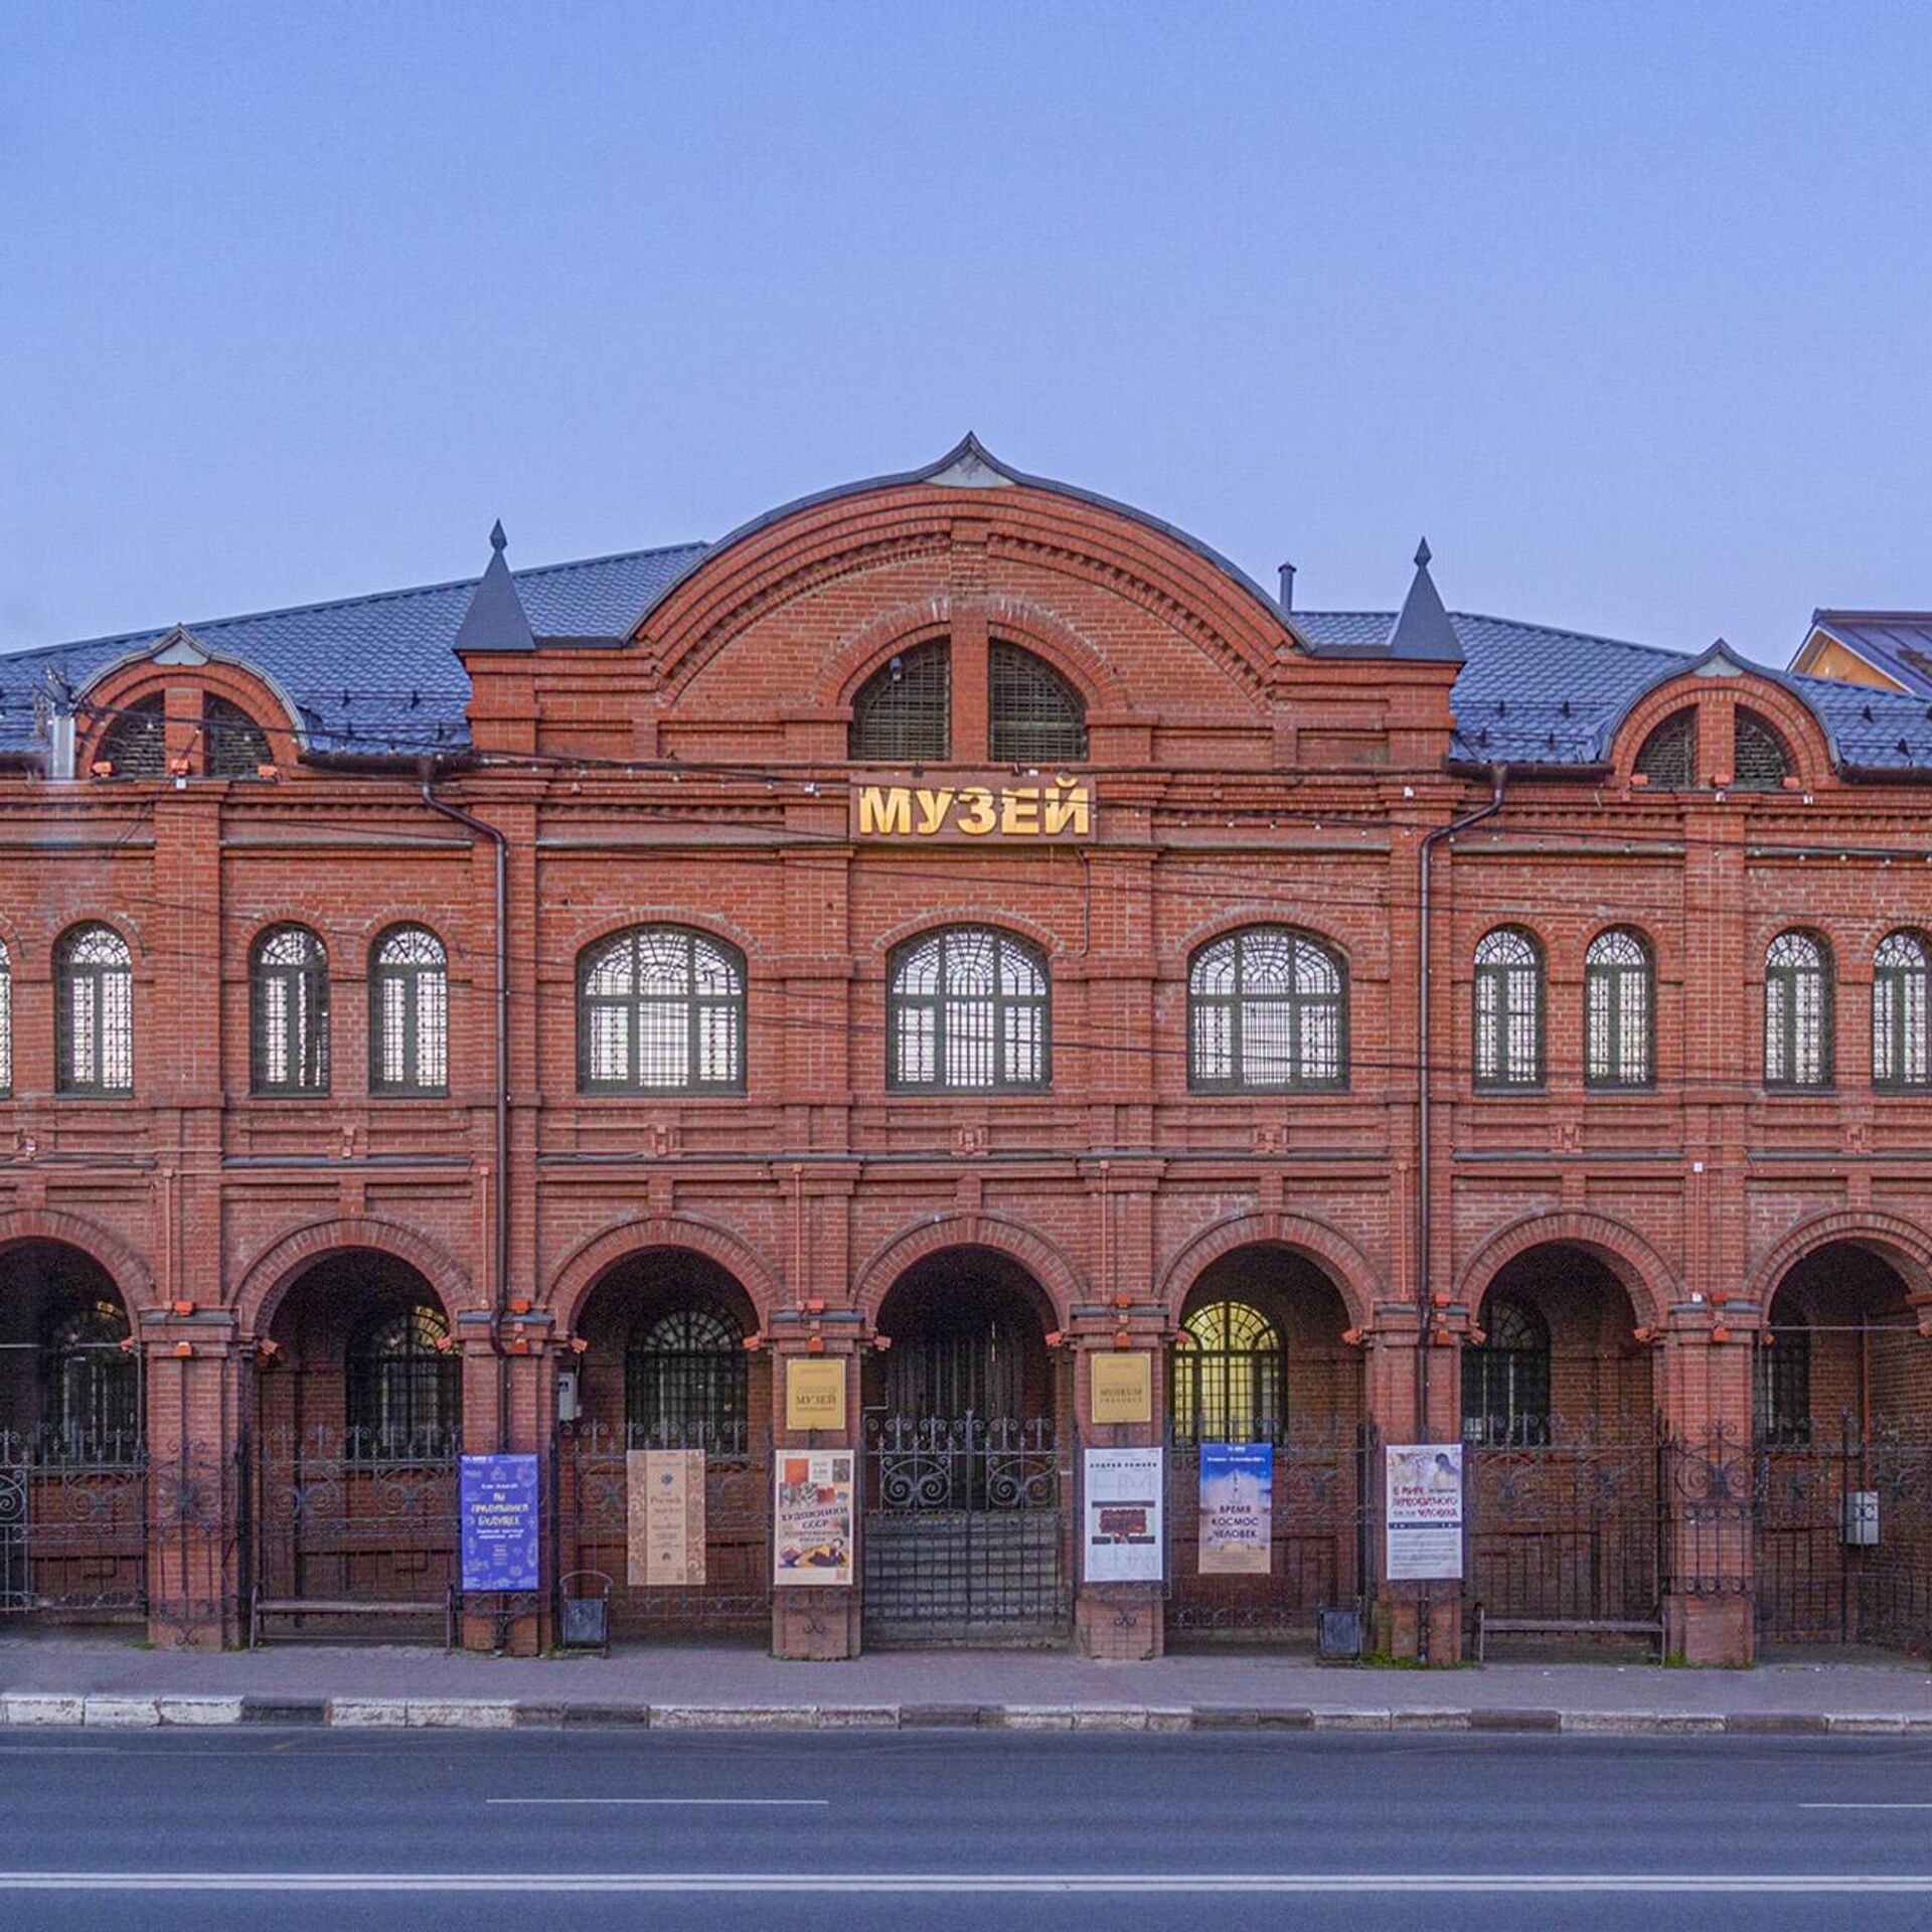
[[[1051,1420],[866,1416],[869,1644],[1045,1644],[1072,1613]]]

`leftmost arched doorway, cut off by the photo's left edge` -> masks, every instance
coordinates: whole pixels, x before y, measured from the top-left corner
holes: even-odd
[[[114,1277],[81,1248],[0,1254],[0,1615],[147,1609],[141,1356]]]

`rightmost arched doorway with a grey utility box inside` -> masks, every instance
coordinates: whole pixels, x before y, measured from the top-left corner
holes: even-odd
[[[1752,1447],[1760,1644],[1932,1644],[1932,1343],[1872,1248],[1777,1283]]]

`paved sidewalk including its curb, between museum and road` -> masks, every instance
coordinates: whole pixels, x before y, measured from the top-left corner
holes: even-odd
[[[1922,1660],[1488,1663],[1449,1671],[1269,1654],[1095,1663],[1061,1652],[887,1652],[784,1663],[757,1650],[444,1656],[280,1644],[164,1652],[99,1636],[0,1640],[0,1723],[657,1723],[707,1727],[1924,1731]]]

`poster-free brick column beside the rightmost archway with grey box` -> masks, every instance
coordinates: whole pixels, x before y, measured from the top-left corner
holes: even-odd
[[[1671,1308],[1662,1349],[1658,1509],[1663,1648],[1687,1663],[1750,1663],[1756,1648],[1752,1302],[1721,1291]]]

